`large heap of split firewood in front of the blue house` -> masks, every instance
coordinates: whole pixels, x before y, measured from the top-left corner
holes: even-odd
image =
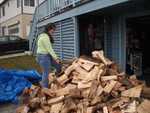
[[[80,57],[49,88],[32,86],[16,113],[150,113],[150,89],[136,76],[120,72],[103,51]]]

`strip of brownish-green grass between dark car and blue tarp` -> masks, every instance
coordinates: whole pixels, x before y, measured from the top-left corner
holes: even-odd
[[[35,69],[38,72],[40,71],[39,65],[36,63],[34,56],[18,56],[7,59],[0,59],[0,68],[5,69]]]

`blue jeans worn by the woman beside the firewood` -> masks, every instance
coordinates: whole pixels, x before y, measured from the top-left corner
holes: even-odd
[[[58,64],[51,55],[44,55],[44,54],[38,54],[37,55],[37,62],[42,68],[42,81],[41,85],[43,87],[48,87],[48,75],[51,72],[52,66],[56,69],[56,74],[61,72],[61,65]]]

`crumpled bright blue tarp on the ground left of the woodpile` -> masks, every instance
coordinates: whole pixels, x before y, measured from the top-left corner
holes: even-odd
[[[17,102],[17,96],[26,87],[40,80],[41,75],[36,70],[0,69],[0,103]]]

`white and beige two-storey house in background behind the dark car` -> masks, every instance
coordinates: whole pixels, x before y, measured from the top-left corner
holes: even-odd
[[[37,0],[4,0],[0,4],[0,35],[27,38]]]

